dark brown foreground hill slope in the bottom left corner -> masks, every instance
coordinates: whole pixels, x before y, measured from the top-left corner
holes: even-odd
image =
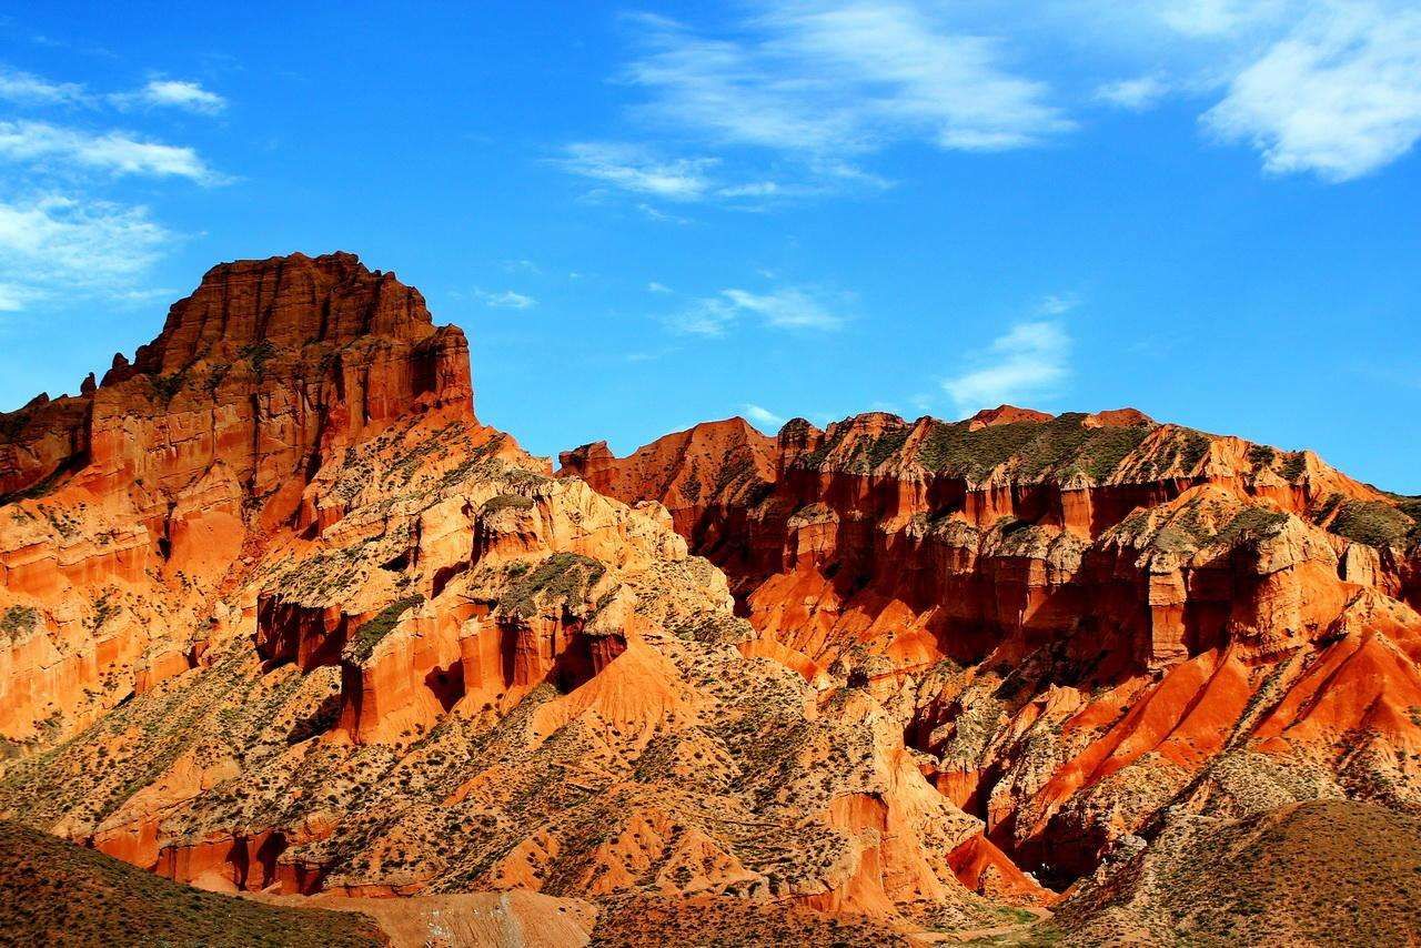
[[[9,822],[0,822],[0,942],[212,948],[388,944],[364,915],[276,908],[198,891]]]

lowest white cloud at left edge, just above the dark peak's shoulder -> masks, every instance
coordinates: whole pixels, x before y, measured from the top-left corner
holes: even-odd
[[[58,293],[128,298],[173,235],[142,206],[60,195],[0,202],[0,308],[24,308]]]

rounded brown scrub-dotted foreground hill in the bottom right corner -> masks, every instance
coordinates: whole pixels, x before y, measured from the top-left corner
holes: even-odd
[[[1076,944],[1421,944],[1421,820],[1336,800],[1179,820],[1052,927]]]

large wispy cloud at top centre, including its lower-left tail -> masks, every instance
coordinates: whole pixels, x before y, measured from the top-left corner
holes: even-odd
[[[928,3],[769,0],[723,31],[627,21],[639,48],[617,78],[641,94],[628,115],[674,139],[659,152],[580,142],[561,165],[644,199],[757,210],[881,190],[892,182],[860,163],[895,144],[993,152],[1074,126],[1005,41],[952,28]]]

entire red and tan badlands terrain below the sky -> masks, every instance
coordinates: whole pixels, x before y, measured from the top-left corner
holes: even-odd
[[[554,472],[394,274],[222,264],[0,415],[0,931],[1421,944],[1417,517],[1133,409]]]

